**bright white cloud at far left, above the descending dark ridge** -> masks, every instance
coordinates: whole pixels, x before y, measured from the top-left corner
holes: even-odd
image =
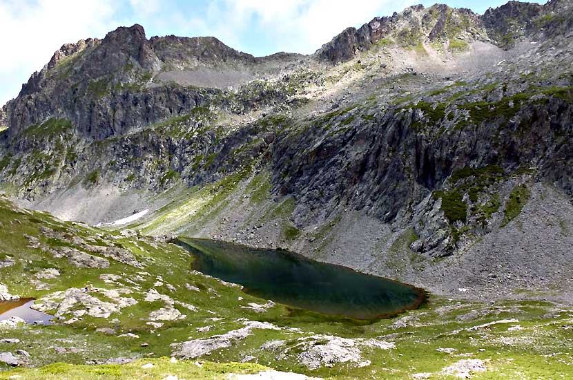
[[[0,104],[62,44],[115,28],[113,0],[0,0]]]

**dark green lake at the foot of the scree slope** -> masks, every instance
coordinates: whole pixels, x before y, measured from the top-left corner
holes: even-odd
[[[177,243],[193,254],[199,272],[243,285],[253,296],[323,314],[376,319],[416,308],[425,296],[422,289],[286,251],[190,238]]]

